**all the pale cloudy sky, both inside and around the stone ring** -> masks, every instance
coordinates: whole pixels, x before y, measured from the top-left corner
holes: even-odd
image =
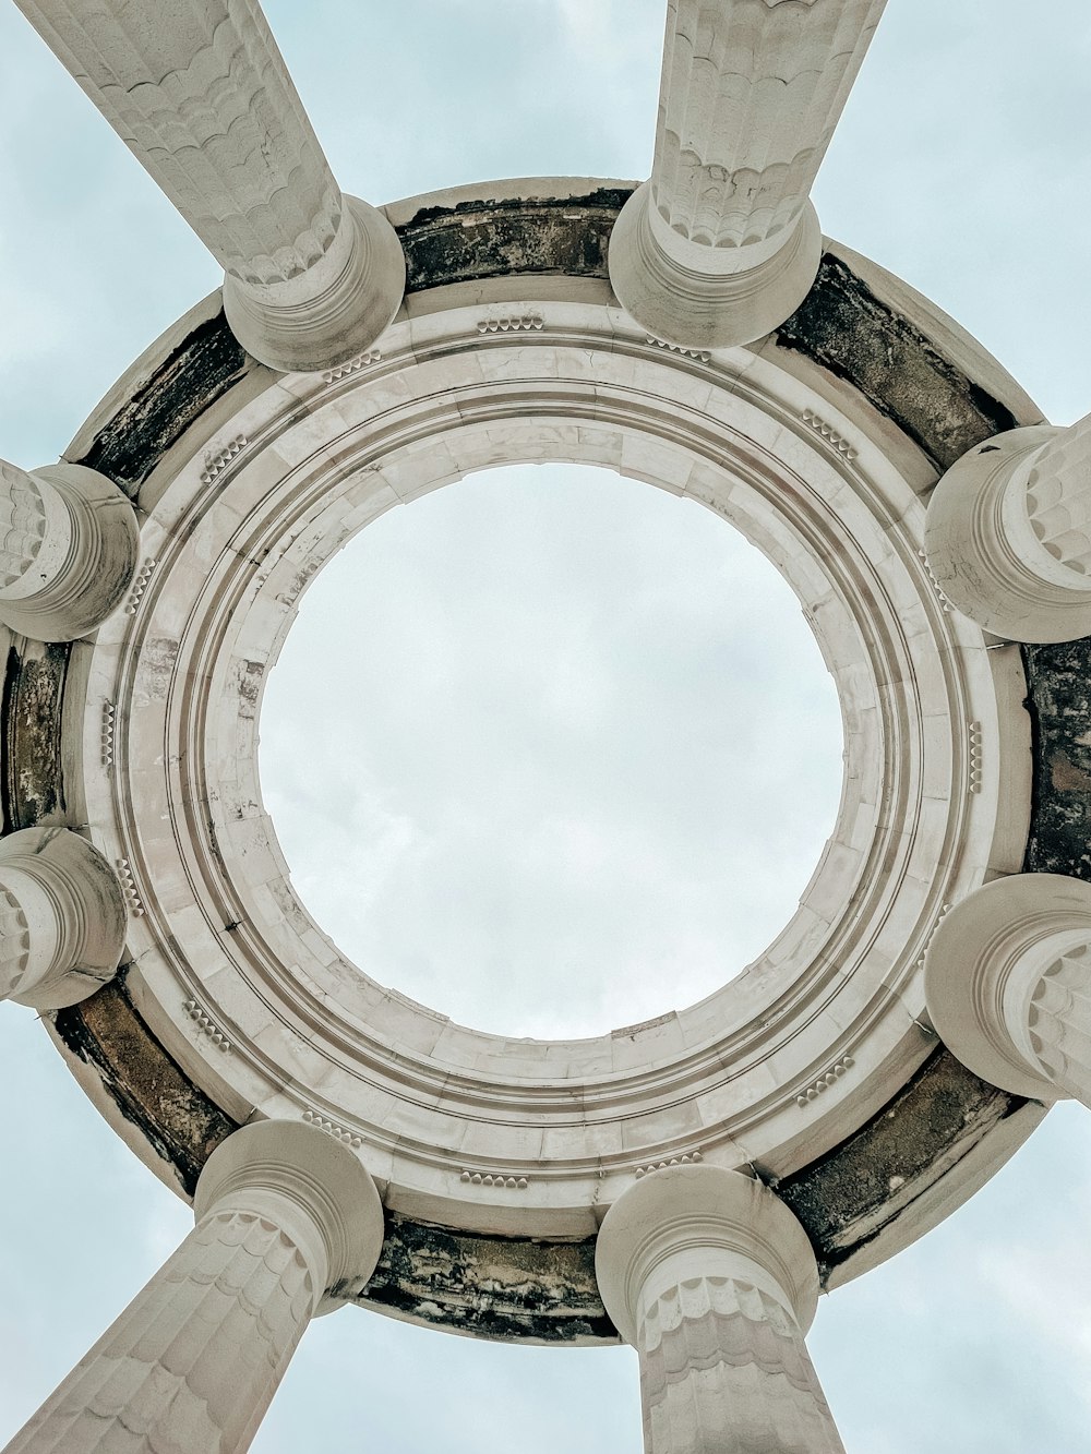
[[[266,4],[346,190],[646,174],[662,0],[362,9]],[[1050,0],[1027,16],[1026,0],[889,0],[815,202],[826,233],[947,308],[1065,423],[1091,407],[1091,13]],[[0,97],[0,454],[32,468],[220,279],[15,6]],[[438,551],[452,532],[465,560]],[[329,692],[345,615],[381,627]],[[316,707],[321,744],[304,737]],[[439,1009],[543,1034],[640,1019],[665,981],[695,996],[761,949],[786,916],[774,890],[799,894],[829,830],[838,753],[828,679],[771,569],[697,507],[550,468],[465,481],[353,542],[304,602],[262,724],[285,852],[335,936]],[[346,756],[348,791],[314,791]],[[532,995],[546,965],[564,984],[550,1002]],[[191,1214],[10,1005],[0,1077],[4,1439]],[[1063,1105],[967,1207],[822,1300],[809,1343],[850,1454],[1091,1450],[1088,1204],[1091,1117]],[[349,1309],[308,1330],[253,1450],[483,1439],[631,1454],[634,1355]]]

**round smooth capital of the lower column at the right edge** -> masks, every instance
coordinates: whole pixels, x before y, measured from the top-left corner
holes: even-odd
[[[925,955],[925,1000],[944,1044],[1012,1095],[1066,1092],[1034,1053],[1030,1003],[1065,954],[1091,941],[1091,884],[1065,874],[1011,874],[957,903]]]

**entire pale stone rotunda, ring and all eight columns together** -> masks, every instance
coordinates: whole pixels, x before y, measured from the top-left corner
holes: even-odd
[[[1043,771],[1087,726],[1050,702],[1091,630],[1091,430],[822,237],[884,0],[671,0],[647,180],[383,208],[340,192],[256,0],[17,3],[224,286],[63,461],[0,465],[0,987],[196,1218],[9,1448],[244,1450],[308,1320],[355,1304],[633,1343],[650,1454],[841,1450],[819,1291],[1091,1104],[1085,843]],[[349,963],[256,753],[330,557],[543,461],[756,545],[845,744],[765,952],[569,1041]]]

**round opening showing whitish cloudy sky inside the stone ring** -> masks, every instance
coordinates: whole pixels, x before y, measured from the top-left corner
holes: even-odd
[[[477,1029],[601,1034],[791,917],[841,792],[836,691],[735,529],[605,470],[495,470],[317,577],[260,772],[292,885],[367,974]]]

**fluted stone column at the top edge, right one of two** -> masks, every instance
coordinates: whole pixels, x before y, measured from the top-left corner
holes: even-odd
[[[669,0],[652,179],[610,281],[655,337],[764,337],[810,291],[810,188],[886,0]]]

